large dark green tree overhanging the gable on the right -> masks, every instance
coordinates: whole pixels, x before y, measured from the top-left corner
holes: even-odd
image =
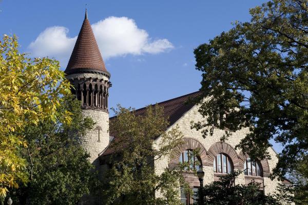
[[[275,174],[292,171],[308,150],[307,9],[307,0],[269,1],[194,51],[206,120],[192,127],[204,136],[228,130],[222,140],[249,128],[237,148],[259,159],[274,138],[284,146]]]

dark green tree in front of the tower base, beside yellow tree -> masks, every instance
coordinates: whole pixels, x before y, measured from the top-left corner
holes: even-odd
[[[80,101],[63,97],[59,113],[72,113],[70,124],[44,120],[27,126],[21,135],[28,147],[22,150],[27,159],[30,181],[27,186],[11,191],[14,204],[76,204],[95,185],[89,154],[80,146],[78,138],[93,126],[91,118],[83,118]]]

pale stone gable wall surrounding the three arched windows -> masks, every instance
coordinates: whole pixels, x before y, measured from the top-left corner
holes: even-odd
[[[174,126],[178,125],[180,131],[183,133],[184,138],[192,138],[198,140],[202,144],[202,146],[205,148],[207,152],[207,161],[203,162],[203,171],[205,172],[204,176],[204,184],[210,183],[214,181],[214,170],[213,170],[213,157],[211,157],[211,152],[214,152],[213,146],[217,144],[217,142],[220,141],[221,136],[224,134],[224,130],[218,130],[216,129],[214,131],[213,136],[208,135],[206,138],[203,138],[201,131],[197,131],[196,129],[190,129],[190,122],[191,121],[199,121],[203,120],[202,115],[198,112],[198,106],[194,106],[191,108],[188,112],[186,112],[174,125],[172,125],[168,130],[172,129]],[[242,129],[240,131],[237,131],[232,134],[232,136],[229,137],[228,140],[226,140],[226,145],[227,146],[221,146],[221,149],[225,149],[224,152],[229,152],[233,150],[234,156],[230,156],[233,158],[235,163],[235,170],[237,169],[243,169],[242,163],[240,163],[241,159],[241,150],[234,150],[235,146],[239,144],[240,140],[246,135],[248,132],[248,129]],[[160,138],[157,139],[157,144],[159,144]],[[212,148],[211,148],[212,147]],[[219,146],[216,146],[219,147]],[[232,147],[227,148],[227,147]],[[215,148],[218,149],[218,148]],[[268,160],[268,167],[270,172],[272,172],[273,168],[276,166],[276,163],[278,161],[277,156],[275,151],[272,148],[268,149],[268,152],[271,154],[272,159]],[[177,158],[174,158],[173,160],[178,160]],[[170,166],[170,157],[164,157],[160,160],[157,160],[155,162],[155,169],[157,174],[161,174],[164,171],[164,168],[167,166]],[[195,186],[196,181],[192,179],[192,177],[189,177],[189,181],[191,181],[191,186]],[[236,179],[237,184],[244,184],[245,183],[245,178],[244,174],[242,173],[237,179]],[[268,177],[264,177],[264,192],[265,194],[271,193],[275,190],[277,186],[278,181],[277,180],[271,180]],[[157,196],[160,196],[160,193],[156,194]]]

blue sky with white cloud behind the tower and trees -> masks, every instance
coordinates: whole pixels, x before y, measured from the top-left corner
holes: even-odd
[[[197,91],[201,73],[195,70],[194,49],[232,28],[235,20],[249,20],[248,9],[263,2],[3,0],[0,28],[1,34],[19,37],[21,51],[56,57],[64,70],[87,4],[90,23],[96,25],[95,37],[112,29],[127,27],[131,31],[129,36],[118,32],[98,40],[111,73],[110,107],[141,108]],[[117,28],[110,27],[113,22],[118,23]],[[44,31],[46,35],[40,35]],[[51,31],[63,41],[49,41]],[[51,48],[46,50],[46,45]],[[277,145],[275,149],[280,150]]]

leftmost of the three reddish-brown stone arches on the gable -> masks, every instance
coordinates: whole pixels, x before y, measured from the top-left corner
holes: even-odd
[[[198,141],[197,139],[188,138],[188,137],[184,137],[183,140],[184,140],[184,143],[174,148],[174,150],[172,151],[169,167],[175,167],[176,165],[179,164],[180,155],[185,150],[195,150],[197,148],[200,148],[199,156],[197,157],[200,160],[201,164],[205,165],[207,161],[207,154],[201,142]]]

